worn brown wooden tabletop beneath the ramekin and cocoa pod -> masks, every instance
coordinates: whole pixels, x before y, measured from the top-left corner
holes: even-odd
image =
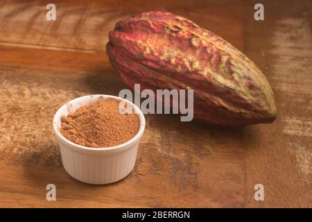
[[[312,2],[257,1],[0,2],[1,207],[311,207]],[[115,22],[148,10],[189,17],[221,35],[266,74],[277,120],[220,128],[175,115],[146,115],[137,164],[112,185],[87,185],[62,167],[52,130],[63,103],[117,95],[125,84],[105,54]],[[54,184],[57,200],[46,200]],[[254,185],[264,201],[254,200]]]

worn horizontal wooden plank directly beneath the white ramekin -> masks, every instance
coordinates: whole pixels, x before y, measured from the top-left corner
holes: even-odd
[[[92,58],[90,61],[94,62]],[[2,173],[0,183],[1,191],[10,192],[13,200],[17,198],[15,192],[26,192],[44,201],[44,187],[53,183],[58,187],[60,202],[73,198],[106,204],[112,201],[120,206],[243,206],[243,130],[182,124],[175,116],[147,115],[135,170],[125,180],[96,191],[73,180],[62,169],[53,137],[54,112],[75,97],[117,94],[124,85],[105,67],[99,68],[98,74],[39,67],[0,66],[1,93],[6,95],[1,100],[6,106],[1,110],[0,128],[2,135],[8,135],[0,139],[1,166],[10,166]],[[81,192],[85,196],[75,198]],[[40,206],[36,203],[28,204]]]

